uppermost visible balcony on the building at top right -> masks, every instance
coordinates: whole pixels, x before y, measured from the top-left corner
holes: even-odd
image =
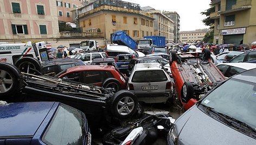
[[[227,5],[222,5],[219,14],[227,14],[229,12],[242,11],[252,8],[252,0],[236,1],[236,4],[231,6],[231,9],[226,10]]]

